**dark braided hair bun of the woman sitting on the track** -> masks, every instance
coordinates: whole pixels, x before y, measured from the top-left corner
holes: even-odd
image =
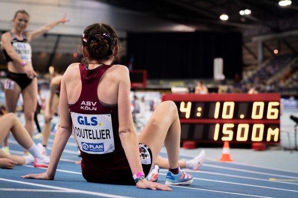
[[[95,23],[85,28],[82,45],[86,47],[88,59],[106,60],[113,54],[118,45],[118,36],[110,25]]]

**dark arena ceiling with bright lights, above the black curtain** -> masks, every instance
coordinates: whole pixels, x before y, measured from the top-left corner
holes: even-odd
[[[244,38],[298,29],[298,1],[287,7],[279,0],[98,0],[195,27],[197,30],[241,31]],[[252,13],[241,16],[240,10]],[[229,16],[227,21],[220,15]]]

